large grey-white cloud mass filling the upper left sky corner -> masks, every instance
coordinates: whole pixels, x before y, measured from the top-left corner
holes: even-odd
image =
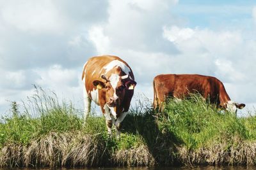
[[[88,29],[103,24],[107,10],[107,0],[0,1],[0,67],[80,66],[95,55]]]

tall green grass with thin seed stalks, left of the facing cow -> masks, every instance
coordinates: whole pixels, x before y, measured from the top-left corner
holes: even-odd
[[[22,106],[11,104],[11,115],[1,118],[0,147],[5,143],[28,144],[49,132],[81,130],[83,119],[72,103],[60,102],[53,92],[35,87],[35,94]],[[19,107],[23,111],[20,113]]]

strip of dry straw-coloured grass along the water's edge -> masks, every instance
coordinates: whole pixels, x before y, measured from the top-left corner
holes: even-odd
[[[189,150],[175,146],[152,150],[141,143],[129,150],[109,150],[100,135],[51,132],[28,145],[10,143],[0,150],[0,167],[138,167],[138,166],[254,166],[256,143],[237,141]]]

